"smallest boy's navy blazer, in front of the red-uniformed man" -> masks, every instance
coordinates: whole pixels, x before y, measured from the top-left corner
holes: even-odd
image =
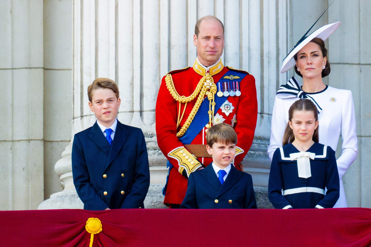
[[[220,184],[210,164],[191,173],[181,208],[256,208],[252,177],[234,166]]]

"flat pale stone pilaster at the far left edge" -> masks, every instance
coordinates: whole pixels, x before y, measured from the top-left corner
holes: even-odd
[[[43,193],[43,1],[0,1],[0,210],[36,209]]]

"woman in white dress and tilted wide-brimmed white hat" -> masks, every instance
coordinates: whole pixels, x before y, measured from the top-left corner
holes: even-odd
[[[340,178],[340,197],[334,207],[347,207],[342,176],[357,157],[357,135],[352,92],[336,89],[323,83],[322,77],[330,73],[324,40],[335,31],[340,22],[328,24],[302,38],[283,62],[281,73],[292,66],[303,77],[300,86],[295,77],[277,91],[273,106],[270,144],[270,160],[276,148],[282,146],[282,137],[288,122],[289,108],[298,98],[311,99],[319,115],[319,143],[336,150],[342,137],[341,155],[336,160]]]

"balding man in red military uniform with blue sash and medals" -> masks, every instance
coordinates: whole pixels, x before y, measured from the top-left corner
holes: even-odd
[[[168,159],[164,204],[177,208],[187,190],[187,178],[212,162],[206,151],[206,132],[213,124],[228,123],[237,133],[234,166],[249,150],[256,127],[255,79],[242,70],[226,67],[220,56],[224,26],[214,16],[197,21],[193,67],[167,73],[156,103],[157,143]]]

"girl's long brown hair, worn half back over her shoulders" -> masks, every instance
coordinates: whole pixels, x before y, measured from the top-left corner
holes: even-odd
[[[314,119],[315,121],[318,120],[318,111],[317,107],[315,104],[308,99],[299,99],[296,100],[289,109],[289,121],[292,120],[292,115],[294,114],[294,111],[313,111]],[[318,126],[314,130],[312,140],[315,142],[318,142]],[[283,139],[282,139],[282,146],[292,143],[295,140],[294,133],[292,129],[290,128],[290,124],[287,123],[285,133],[283,134]]]

